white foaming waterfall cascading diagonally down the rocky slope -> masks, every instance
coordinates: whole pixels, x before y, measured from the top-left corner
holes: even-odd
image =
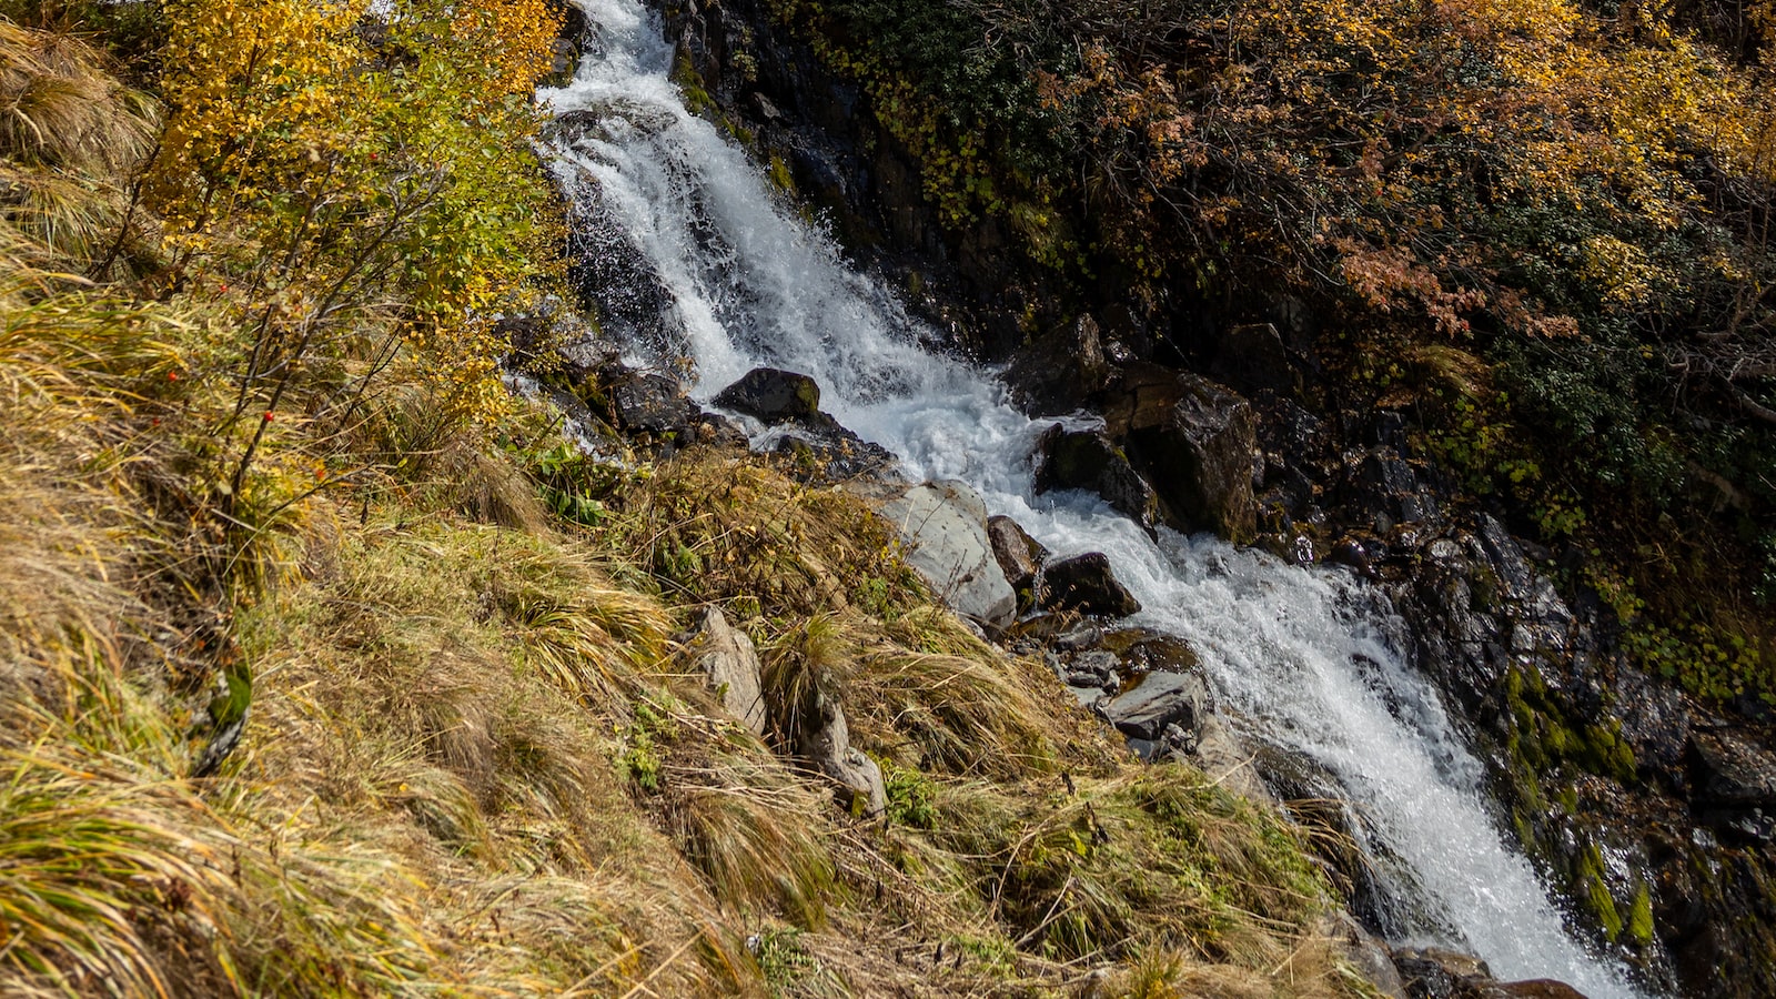
[[[1138,624],[1188,638],[1252,734],[1337,777],[1391,853],[1384,880],[1415,914],[1410,942],[1467,946],[1502,979],[1637,995],[1566,935],[1529,862],[1501,839],[1479,763],[1389,640],[1385,599],[1346,572],[1209,537],[1162,530],[1154,542],[1094,496],[1034,496],[1030,452],[1051,421],[1032,423],[991,373],[932,352],[931,331],[686,110],[668,78],[671,46],[639,0],[579,2],[591,53],[543,100],[599,124],[556,151],[556,169],[613,224],[606,238],[627,240],[670,292],[693,395],[707,400],[755,366],[813,375],[822,407],[909,475],[970,482],[1057,553],[1105,551],[1146,608]]]

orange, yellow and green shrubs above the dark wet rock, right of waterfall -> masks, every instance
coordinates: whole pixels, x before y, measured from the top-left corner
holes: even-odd
[[[1769,4],[769,7],[952,226],[1154,329],[1309,316],[1323,405],[1410,411],[1646,667],[1767,711]]]

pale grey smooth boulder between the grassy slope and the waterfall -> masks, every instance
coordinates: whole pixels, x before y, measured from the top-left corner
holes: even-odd
[[[906,562],[957,613],[1003,627],[1018,611],[987,539],[987,507],[963,482],[856,484],[854,491],[900,535]]]

